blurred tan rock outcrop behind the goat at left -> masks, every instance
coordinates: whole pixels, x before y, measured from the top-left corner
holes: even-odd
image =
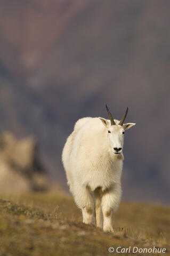
[[[50,182],[37,156],[33,137],[18,140],[10,132],[0,134],[0,191],[21,193],[48,190]]]

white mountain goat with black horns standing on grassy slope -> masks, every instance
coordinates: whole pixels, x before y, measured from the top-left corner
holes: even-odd
[[[62,162],[83,222],[114,232],[112,212],[122,194],[124,133],[135,124],[124,124],[128,108],[121,121],[114,120],[106,108],[110,120],[85,117],[76,122],[63,148]]]

